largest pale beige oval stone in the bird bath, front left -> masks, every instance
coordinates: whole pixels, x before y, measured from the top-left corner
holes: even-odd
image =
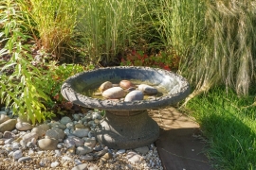
[[[119,99],[122,98],[125,95],[125,92],[120,87],[113,87],[110,89],[107,89],[102,93],[102,96],[108,99]]]

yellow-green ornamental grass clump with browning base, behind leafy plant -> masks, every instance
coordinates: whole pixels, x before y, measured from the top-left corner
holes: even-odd
[[[77,1],[30,0],[24,8],[33,19],[39,35],[38,45],[60,59],[71,44],[77,18]],[[70,47],[69,47],[70,48]]]

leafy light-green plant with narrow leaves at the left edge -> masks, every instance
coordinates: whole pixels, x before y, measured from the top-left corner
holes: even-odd
[[[0,20],[5,28],[3,37],[7,41],[1,56],[11,56],[1,68],[1,102],[11,106],[15,114],[27,115],[35,124],[52,116],[52,113],[47,112],[44,105],[50,99],[43,91],[42,70],[31,64],[30,46],[26,44],[30,37],[21,31],[25,27],[23,17],[26,13],[9,0],[1,8],[8,13],[1,15]]]

